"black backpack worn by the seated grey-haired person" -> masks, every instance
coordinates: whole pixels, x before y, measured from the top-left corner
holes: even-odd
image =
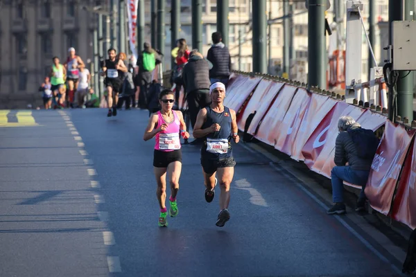
[[[347,130],[352,139],[358,157],[361,159],[372,160],[379,147],[380,140],[376,137],[374,132],[370,129],[363,129],[361,127]]]

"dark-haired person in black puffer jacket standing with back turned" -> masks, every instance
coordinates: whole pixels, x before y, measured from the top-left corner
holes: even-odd
[[[231,55],[227,46],[223,44],[220,32],[212,33],[212,43],[207,53],[207,60],[212,64],[212,69],[209,70],[209,80],[211,84],[222,82],[227,86],[231,72]]]

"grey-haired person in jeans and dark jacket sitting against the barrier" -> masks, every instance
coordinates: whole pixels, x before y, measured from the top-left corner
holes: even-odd
[[[347,132],[349,129],[356,128],[361,128],[361,125],[356,123],[351,116],[341,116],[338,120],[339,134],[336,138],[335,157],[333,159],[336,166],[331,170],[332,200],[334,205],[327,212],[330,215],[345,213],[343,181],[363,187],[358,197],[356,211],[364,209],[366,199],[364,188],[370,174],[372,159],[358,157],[356,145]],[[346,163],[348,163],[348,166],[345,166]]]

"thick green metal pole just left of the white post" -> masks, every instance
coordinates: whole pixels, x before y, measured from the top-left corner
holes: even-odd
[[[326,88],[325,7],[326,0],[310,0],[308,12],[308,86]]]

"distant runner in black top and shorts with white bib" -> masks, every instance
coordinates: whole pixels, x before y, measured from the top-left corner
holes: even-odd
[[[117,115],[117,102],[119,101],[119,92],[121,89],[121,78],[123,73],[127,72],[127,66],[125,66],[122,60],[116,59],[116,50],[110,48],[108,50],[108,60],[105,60],[103,64],[103,73],[105,75],[104,84],[107,88],[107,104],[108,114],[107,116]]]

